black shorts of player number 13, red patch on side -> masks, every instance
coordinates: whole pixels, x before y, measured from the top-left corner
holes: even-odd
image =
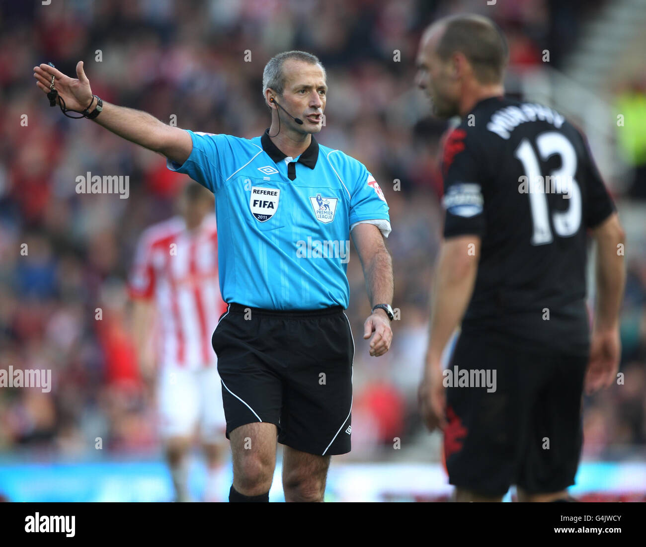
[[[489,370],[490,380],[495,370],[496,385],[492,392],[455,382],[446,387],[449,482],[490,497],[512,484],[528,493],[574,484],[587,362],[587,356],[537,355],[497,336],[461,335],[448,369]]]

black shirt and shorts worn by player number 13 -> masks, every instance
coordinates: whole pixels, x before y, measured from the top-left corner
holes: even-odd
[[[587,229],[614,205],[583,136],[536,103],[479,101],[448,136],[443,174],[444,237],[482,241],[451,367],[497,371],[494,393],[446,391],[451,483],[563,490],[582,441]]]

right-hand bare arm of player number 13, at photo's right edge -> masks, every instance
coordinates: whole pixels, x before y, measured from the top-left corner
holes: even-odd
[[[590,395],[616,380],[621,355],[619,313],[625,285],[625,233],[616,212],[592,229],[596,242],[596,310],[585,389]]]

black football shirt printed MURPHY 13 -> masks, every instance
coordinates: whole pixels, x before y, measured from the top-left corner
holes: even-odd
[[[449,134],[442,169],[444,237],[482,241],[463,333],[586,355],[587,229],[614,205],[585,138],[552,108],[488,98]]]

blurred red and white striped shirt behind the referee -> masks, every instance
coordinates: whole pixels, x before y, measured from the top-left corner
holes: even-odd
[[[161,367],[213,366],[211,335],[226,310],[218,280],[218,232],[208,215],[190,232],[181,216],[149,227],[137,246],[129,290],[154,298]]]

